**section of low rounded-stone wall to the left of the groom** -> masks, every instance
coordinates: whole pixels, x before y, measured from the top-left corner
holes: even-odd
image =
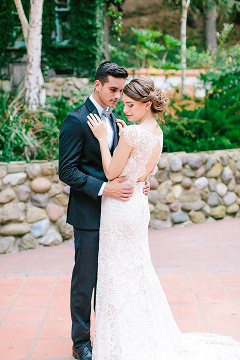
[[[0,162],[0,253],[72,237],[66,224],[70,188],[58,178],[57,162]]]

